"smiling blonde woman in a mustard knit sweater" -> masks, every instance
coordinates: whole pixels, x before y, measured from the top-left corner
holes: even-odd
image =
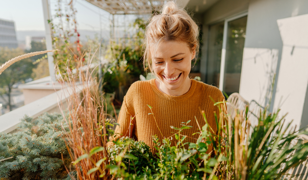
[[[181,127],[180,123],[188,120],[191,120],[188,125],[193,127],[181,134],[189,137],[186,141],[196,141],[198,134],[192,134],[200,130],[195,116],[201,127],[205,125],[202,110],[209,126],[217,132],[213,112],[219,109],[213,106],[211,98],[221,102],[223,94],[214,86],[188,77],[191,62],[198,54],[198,35],[196,23],[174,2],[168,2],[161,14],[151,18],[145,33],[144,66],[155,73],[156,79],[131,85],[120,110],[120,126],[116,127],[111,141],[135,135],[138,141],[144,141],[155,150],[152,135],[168,138],[175,132],[170,126]],[[173,137],[172,146],[176,146],[176,142]],[[208,151],[211,150],[209,147]]]

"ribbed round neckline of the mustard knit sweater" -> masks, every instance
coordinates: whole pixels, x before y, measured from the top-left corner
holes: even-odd
[[[156,87],[155,79],[151,79],[150,84],[151,84],[151,87],[152,87],[152,90],[154,91],[154,93],[157,94],[160,98],[164,98],[164,99],[170,100],[170,101],[183,101],[185,99],[190,98],[194,94],[194,92],[196,90],[196,86],[197,86],[197,81],[192,79],[192,83],[191,83],[190,88],[187,91],[187,93],[180,95],[180,96],[172,96],[172,95],[168,95],[168,94],[161,92]]]

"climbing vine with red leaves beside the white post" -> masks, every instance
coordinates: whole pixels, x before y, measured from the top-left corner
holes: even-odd
[[[62,0],[58,0],[54,17],[48,20],[52,31],[53,48],[60,50],[54,53],[55,64],[59,67],[57,73],[63,77],[67,70],[73,70],[78,66],[79,59],[83,55],[80,34],[77,30],[77,10],[73,5],[73,1],[63,3]],[[84,60],[85,58],[82,58],[82,62]]]

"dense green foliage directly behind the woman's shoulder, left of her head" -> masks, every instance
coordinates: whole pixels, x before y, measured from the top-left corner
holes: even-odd
[[[141,61],[145,20],[137,18],[130,26],[134,31],[132,37],[109,43],[105,59],[110,62],[103,68],[103,90],[115,92],[115,99],[120,103],[129,86],[139,80],[140,74],[145,75]]]

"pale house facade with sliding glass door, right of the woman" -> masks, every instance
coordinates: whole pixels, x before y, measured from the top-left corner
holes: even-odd
[[[201,80],[308,125],[307,0],[180,0],[200,23]],[[275,76],[275,78],[274,78]],[[274,86],[272,86],[274,84]]]

